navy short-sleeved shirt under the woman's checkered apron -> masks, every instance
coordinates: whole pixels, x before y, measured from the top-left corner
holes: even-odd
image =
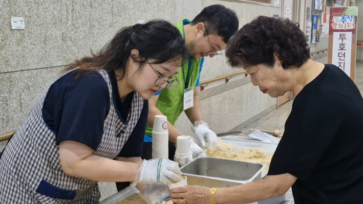
[[[127,121],[134,92],[121,101],[114,72],[109,72],[113,100],[121,121]],[[46,124],[54,131],[56,142],[71,140],[85,144],[95,151],[102,140],[103,123],[110,110],[110,92],[106,81],[97,72],[89,72],[76,78],[70,72],[49,88],[42,109]],[[147,123],[148,102],[139,120],[118,156],[141,156]],[[116,136],[115,136],[116,137]]]

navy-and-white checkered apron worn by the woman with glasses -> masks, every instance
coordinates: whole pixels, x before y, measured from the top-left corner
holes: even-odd
[[[116,112],[108,73],[96,72],[107,82],[111,100],[102,140],[93,154],[113,159],[134,129],[144,99],[134,93],[127,124],[123,124]],[[42,119],[48,90],[16,131],[0,160],[0,203],[97,203],[100,198],[97,182],[68,176],[60,166],[55,134]],[[45,191],[50,193],[41,193]]]

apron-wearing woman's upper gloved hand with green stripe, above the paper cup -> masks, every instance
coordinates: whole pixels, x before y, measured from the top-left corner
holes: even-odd
[[[154,158],[141,163],[133,186],[135,187],[138,183],[173,184],[182,180],[178,163],[166,158]]]

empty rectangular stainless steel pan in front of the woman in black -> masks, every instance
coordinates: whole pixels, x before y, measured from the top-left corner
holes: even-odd
[[[261,179],[266,164],[227,160],[224,158],[198,157],[180,168],[188,177],[188,185],[232,187]]]

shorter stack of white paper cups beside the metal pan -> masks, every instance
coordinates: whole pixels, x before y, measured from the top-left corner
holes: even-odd
[[[178,162],[180,166],[184,166],[191,160],[193,160],[193,155],[190,150],[189,136],[178,136],[174,161]]]

